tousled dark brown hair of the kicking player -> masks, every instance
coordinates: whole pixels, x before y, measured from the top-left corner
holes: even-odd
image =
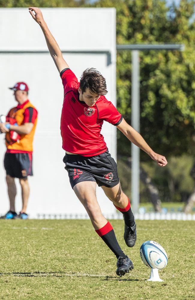
[[[83,71],[80,79],[80,89],[82,94],[86,89],[101,96],[106,95],[108,92],[106,89],[106,79],[94,68],[88,68]]]

